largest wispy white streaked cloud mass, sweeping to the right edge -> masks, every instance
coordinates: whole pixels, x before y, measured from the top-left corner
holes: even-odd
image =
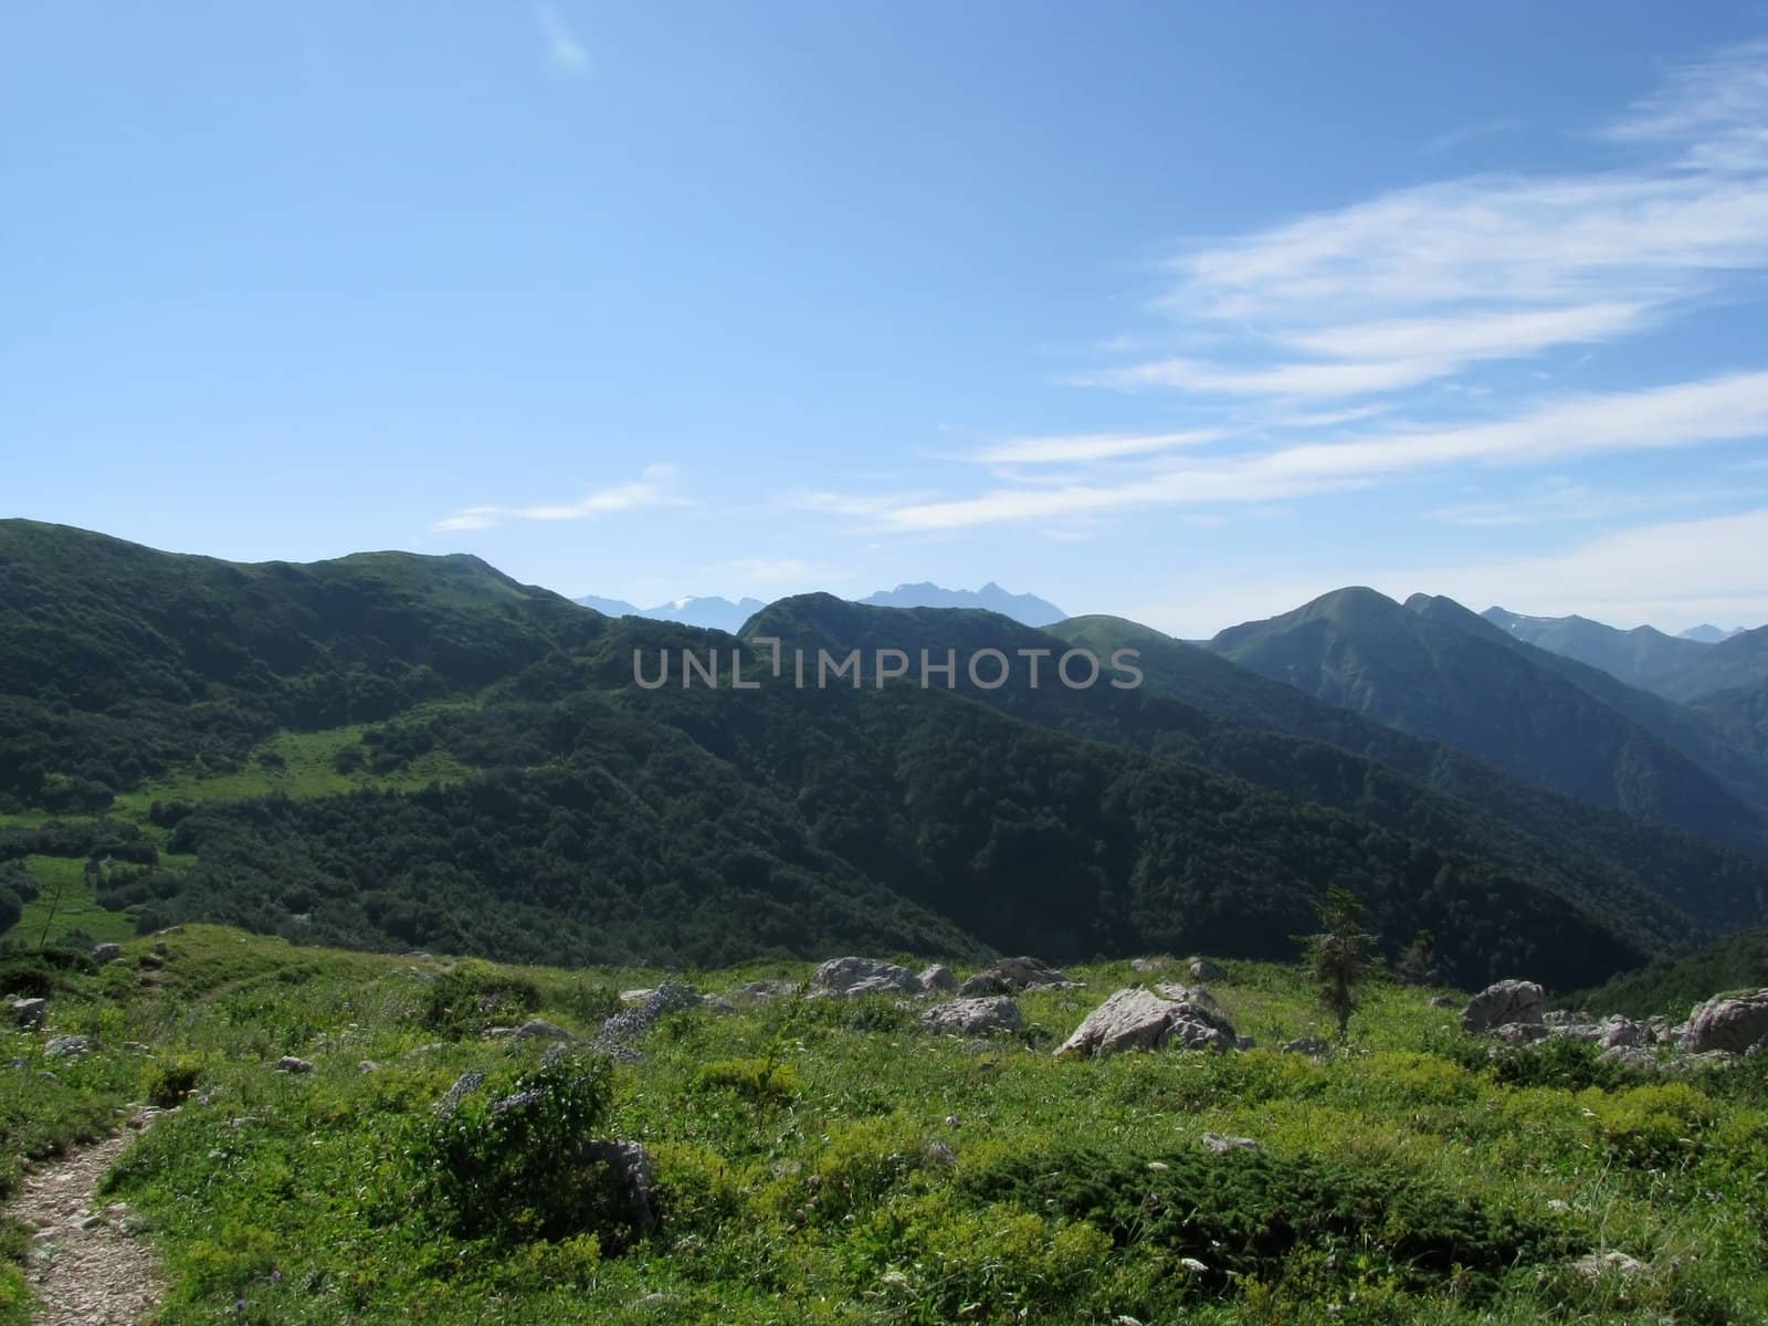
[[[1391,189],[1174,256],[1155,301],[1172,352],[1130,350],[1070,382],[1160,396],[1176,426],[1015,437],[958,458],[978,467],[971,492],[819,493],[812,506],[896,532],[1073,529],[1132,509],[1768,435],[1768,371],[1570,387],[1591,347],[1660,331],[1733,299],[1740,274],[1768,274],[1768,42],[1671,71],[1602,136],[1625,164]],[[1529,359],[1543,362],[1499,371]],[[1496,410],[1519,380],[1536,398]]]

